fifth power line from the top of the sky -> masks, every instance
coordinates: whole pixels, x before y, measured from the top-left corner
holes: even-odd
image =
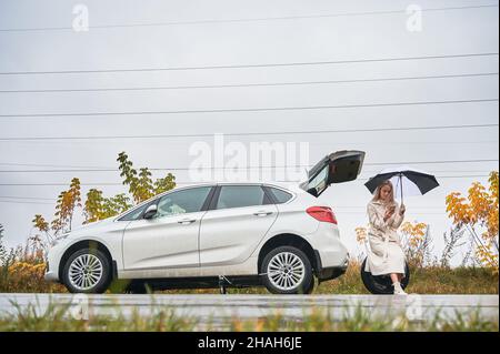
[[[498,101],[498,100],[497,100]],[[302,130],[287,132],[229,132],[224,136],[254,136],[254,135],[294,135],[294,134],[331,134],[331,133],[363,133],[386,131],[414,131],[414,130],[448,130],[471,128],[496,128],[498,123],[489,124],[454,124],[454,125],[428,125],[428,127],[393,127],[393,128],[367,128],[367,129],[338,129],[338,130]],[[0,141],[38,141],[38,140],[110,140],[110,139],[164,139],[164,138],[213,138],[213,133],[201,134],[148,134],[148,135],[101,135],[101,136],[10,136],[0,138]]]

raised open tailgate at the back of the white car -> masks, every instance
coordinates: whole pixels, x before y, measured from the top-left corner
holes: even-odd
[[[353,181],[361,173],[364,152],[343,150],[333,152],[319,161],[308,173],[308,181],[300,188],[320,196],[331,184]]]

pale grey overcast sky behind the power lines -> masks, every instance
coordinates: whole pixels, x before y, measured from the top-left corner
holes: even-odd
[[[73,7],[78,3],[88,8],[89,31],[71,29],[76,17]],[[406,9],[410,4],[424,10],[420,31],[407,27]],[[441,186],[424,196],[408,199],[407,208],[408,220],[431,225],[434,251],[439,255],[442,233],[450,226],[444,198],[452,191],[467,191],[473,181],[486,183],[488,173],[498,170],[498,127],[331,131],[498,124],[498,1],[494,0],[0,0],[0,91],[302,83],[0,92],[0,223],[6,229],[7,244],[14,246],[26,241],[36,213],[51,219],[54,206],[51,200],[64,189],[12,184],[69,184],[71,178],[78,176],[83,184],[93,183],[84,185],[83,192],[89,188],[99,188],[107,195],[126,191],[120,185],[103,184],[121,182],[116,171],[26,170],[112,169],[121,151],[127,151],[138,168],[187,168],[192,161],[191,144],[196,141],[213,144],[213,136],[1,139],[330,131],[232,135],[226,136],[226,141],[247,146],[262,141],[309,142],[311,164],[337,150],[366,151],[367,165],[360,180],[334,185],[321,196],[322,203],[334,209],[342,240],[354,253],[358,247],[354,227],[367,223],[364,210],[371,198],[362,179],[399,162],[434,173]],[[473,55],[462,57],[466,54]],[[444,58],[367,61],[416,57]],[[284,63],[302,64],[260,65]],[[47,73],[234,65],[240,68]],[[46,73],[26,73],[33,71]],[[12,72],[18,74],[7,74]],[[366,81],[390,78],[420,79]],[[399,104],[412,102],[434,103]],[[386,103],[398,104],[373,105]],[[266,108],[316,109],[244,111]],[[219,111],[231,109],[242,111]],[[50,115],[144,111],[163,113]],[[19,117],[22,114],[47,115]],[[178,181],[189,182],[188,171],[172,173]],[[162,174],[154,172],[156,178]],[[460,254],[456,259],[459,261]]]

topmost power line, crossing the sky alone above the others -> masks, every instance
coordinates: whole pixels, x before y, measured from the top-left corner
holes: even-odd
[[[498,8],[498,4],[427,8],[427,9],[422,9],[422,11],[424,11],[424,12],[452,11],[452,10],[488,9],[488,8]],[[342,12],[342,13],[329,13],[329,14],[286,16],[286,17],[227,19],[227,20],[209,19],[209,20],[169,21],[169,22],[149,22],[149,23],[142,22],[142,23],[123,23],[123,24],[100,24],[100,26],[91,26],[90,29],[93,30],[93,29],[119,29],[119,28],[138,28],[138,27],[166,27],[166,26],[188,26],[188,24],[286,21],[286,20],[307,20],[307,19],[319,19],[319,18],[362,17],[362,16],[379,16],[379,14],[399,14],[399,13],[406,13],[406,10]],[[0,32],[68,31],[68,30],[72,30],[72,28],[70,28],[70,27],[11,28],[11,29],[0,29]]]

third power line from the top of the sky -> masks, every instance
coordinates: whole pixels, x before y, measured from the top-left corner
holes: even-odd
[[[283,87],[283,85],[312,85],[333,83],[359,83],[359,82],[387,82],[406,80],[430,80],[430,79],[457,79],[498,75],[498,72],[461,73],[448,75],[424,77],[400,77],[400,78],[374,78],[351,80],[327,80],[327,81],[300,81],[300,82],[269,82],[269,83],[236,83],[236,84],[207,84],[207,85],[177,85],[177,87],[137,87],[137,88],[93,88],[93,89],[39,89],[39,90],[0,90],[0,93],[58,93],[58,92],[107,92],[107,91],[154,91],[154,90],[191,90],[191,89],[228,89],[228,88],[258,88],[258,87]]]

